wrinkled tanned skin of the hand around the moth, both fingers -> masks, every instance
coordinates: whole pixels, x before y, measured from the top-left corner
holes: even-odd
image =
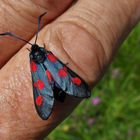
[[[12,31],[33,42],[37,17],[47,11],[37,43],[40,46],[45,43],[47,50],[68,62],[93,87],[138,23],[140,0],[78,0],[70,7],[71,3],[72,0],[0,1],[0,33]],[[67,97],[64,104],[56,102],[50,118],[41,120],[33,103],[26,48],[30,45],[0,37],[0,137],[3,140],[41,140],[81,101]]]

